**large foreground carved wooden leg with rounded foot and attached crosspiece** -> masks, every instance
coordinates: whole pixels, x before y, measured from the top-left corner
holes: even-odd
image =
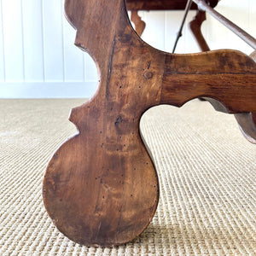
[[[143,113],[199,96],[221,102],[220,111],[255,113],[256,64],[234,50],[172,55],[154,49],[132,29],[124,0],[66,0],[65,9],[77,29],[75,44],[96,61],[99,85],[90,102],[71,112],[79,134],[49,161],[44,205],[73,241],[118,245],[143,232],[159,200],[139,131]]]

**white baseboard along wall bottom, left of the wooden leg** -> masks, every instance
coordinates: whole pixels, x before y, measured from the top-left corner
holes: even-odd
[[[90,98],[96,93],[92,82],[0,83],[0,98]]]

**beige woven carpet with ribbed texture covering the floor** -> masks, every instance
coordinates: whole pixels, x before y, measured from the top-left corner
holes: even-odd
[[[207,102],[150,109],[143,135],[160,177],[160,203],[143,235],[83,247],[51,223],[42,201],[49,157],[76,132],[81,100],[1,100],[0,255],[256,255],[256,145]]]

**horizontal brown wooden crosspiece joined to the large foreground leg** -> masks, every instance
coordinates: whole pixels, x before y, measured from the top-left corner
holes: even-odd
[[[181,107],[201,96],[220,102],[223,108],[216,110],[224,113],[255,112],[255,74],[254,61],[241,52],[169,55],[160,103]]]

